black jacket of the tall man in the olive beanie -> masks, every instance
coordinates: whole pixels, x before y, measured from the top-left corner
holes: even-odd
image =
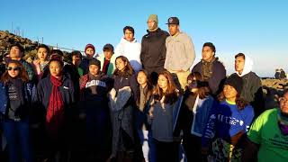
[[[157,31],[148,31],[143,36],[141,42],[140,59],[143,68],[151,74],[153,71],[160,72],[164,69],[166,59],[166,38],[169,33],[162,31],[160,28]]]

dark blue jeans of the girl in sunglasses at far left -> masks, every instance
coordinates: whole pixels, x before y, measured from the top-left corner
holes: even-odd
[[[25,162],[32,161],[31,141],[28,121],[11,121],[5,120],[3,122],[4,136],[7,139],[9,161],[22,161],[19,156],[19,148],[22,152],[22,157]],[[19,147],[20,144],[20,147]]]

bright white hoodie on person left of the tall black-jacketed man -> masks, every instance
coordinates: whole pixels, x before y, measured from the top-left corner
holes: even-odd
[[[135,72],[138,72],[142,68],[140,61],[141,44],[136,39],[130,42],[121,38],[114,52],[117,56],[128,58]]]

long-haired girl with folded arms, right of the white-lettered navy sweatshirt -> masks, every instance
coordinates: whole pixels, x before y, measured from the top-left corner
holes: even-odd
[[[141,161],[143,155],[134,124],[138,85],[128,58],[115,59],[114,85],[109,94],[112,118],[112,160]]]

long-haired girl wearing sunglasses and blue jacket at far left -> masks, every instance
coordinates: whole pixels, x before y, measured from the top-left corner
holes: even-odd
[[[10,60],[0,82],[0,118],[11,162],[22,161],[19,148],[24,161],[33,161],[29,130],[32,89],[23,65]]]

